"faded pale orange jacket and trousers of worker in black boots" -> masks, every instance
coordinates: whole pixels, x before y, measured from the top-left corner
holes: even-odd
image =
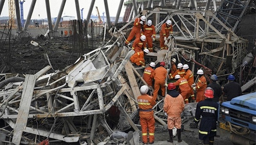
[[[172,97],[171,95],[166,94],[163,109],[168,115],[168,129],[173,129],[174,126],[177,129],[180,129],[181,113],[184,110],[184,101],[181,94],[179,94],[177,97]]]

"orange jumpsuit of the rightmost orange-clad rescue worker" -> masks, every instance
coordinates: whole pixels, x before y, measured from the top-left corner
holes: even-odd
[[[207,87],[207,82],[204,76],[201,76],[196,83],[196,102],[204,100],[204,90]]]

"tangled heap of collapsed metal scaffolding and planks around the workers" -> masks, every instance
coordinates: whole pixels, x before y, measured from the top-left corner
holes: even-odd
[[[169,50],[159,50],[157,40],[154,45],[157,52],[147,55],[147,63],[165,61],[169,64],[171,57],[177,57],[189,63],[193,72],[203,68],[208,76],[217,74],[222,78],[220,81],[235,74],[240,68],[237,66],[243,64],[247,40],[223,23],[227,34],[215,29],[209,18],[219,21],[211,11],[155,8],[142,13],[147,18],[167,15],[155,25],[157,31],[166,19],[172,19],[176,28],[174,38],[168,43]],[[24,77],[1,74],[5,79],[0,82],[0,118],[5,123],[5,127],[0,128],[5,137],[2,142],[32,145],[49,139],[80,145],[139,145],[141,127],[136,100],[139,87],[147,83],[141,77],[142,69],[135,68],[129,61],[134,51],[123,46],[130,23],[132,21],[120,29],[113,27],[105,31],[112,36],[108,42],[62,70],[47,65]],[[251,64],[250,60],[248,65]],[[255,82],[255,78],[253,82],[246,79],[244,84],[250,84],[244,86],[243,91]],[[162,105],[163,98],[159,96],[154,106],[156,132],[167,130]],[[193,117],[195,108],[196,103],[186,104],[183,123]]]

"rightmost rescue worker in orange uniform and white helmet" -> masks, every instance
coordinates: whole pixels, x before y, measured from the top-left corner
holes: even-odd
[[[206,78],[203,76],[203,70],[199,69],[196,74],[199,75],[197,83],[192,84],[193,90],[196,90],[196,102],[204,100],[204,90],[207,87]]]

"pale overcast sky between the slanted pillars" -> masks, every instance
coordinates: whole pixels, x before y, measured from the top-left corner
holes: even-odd
[[[26,19],[26,17],[27,17],[28,11],[30,9],[31,1],[32,0],[25,0],[25,2],[23,4],[24,19]],[[125,1],[127,1],[127,0],[124,0],[124,2]],[[49,0],[49,2],[50,2],[50,9],[51,9],[51,17],[52,18],[57,17],[62,0]],[[91,3],[91,0],[79,0],[80,9],[84,8],[84,10],[83,10],[83,18],[84,19],[87,17],[90,3]],[[120,3],[120,0],[108,0],[109,15],[111,17],[116,16],[119,3]],[[96,8],[95,8],[96,6],[98,7],[100,15],[102,15],[102,12],[105,12],[104,0],[95,0],[94,7],[92,10],[93,15],[97,14]],[[123,6],[121,13],[120,13],[120,17],[124,16],[124,11],[125,11],[125,7]],[[8,15],[9,15],[8,0],[5,0],[4,8],[2,10],[0,17],[8,16]],[[40,17],[38,15],[40,15]],[[62,16],[65,16],[65,15],[66,16],[67,15],[75,16],[75,18],[77,18],[76,9],[75,9],[75,0],[67,0],[66,1]],[[80,15],[81,15],[81,13],[80,13]],[[104,15],[106,15],[106,14],[104,14]],[[31,19],[41,19],[41,18],[47,18],[46,8],[45,8],[45,0],[37,0]]]

